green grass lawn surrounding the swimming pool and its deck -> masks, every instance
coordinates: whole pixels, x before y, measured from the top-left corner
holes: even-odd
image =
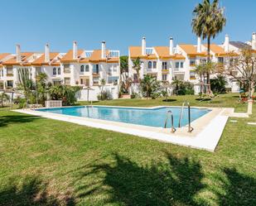
[[[113,100],[234,107],[235,94]],[[215,153],[0,109],[0,205],[256,205],[256,122],[231,118]]]

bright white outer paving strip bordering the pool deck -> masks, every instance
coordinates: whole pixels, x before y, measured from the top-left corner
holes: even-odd
[[[152,108],[162,108],[166,106],[152,107]],[[172,106],[170,106],[172,107]],[[114,108],[134,108],[134,107],[114,107]],[[197,108],[197,107],[195,107]],[[212,108],[208,108],[212,109]],[[215,147],[218,145],[220,141],[220,137],[222,132],[224,131],[225,124],[228,120],[228,116],[223,115],[226,108],[222,108],[221,112],[218,113],[214,118],[210,120],[210,122],[198,133],[196,136],[191,137],[189,133],[185,133],[182,136],[179,134],[170,133],[162,133],[156,131],[145,131],[145,129],[140,129],[137,125],[135,128],[133,127],[125,127],[126,124],[122,122],[110,122],[104,120],[95,120],[86,117],[75,117],[68,116],[56,113],[46,113],[40,112],[30,109],[17,109],[13,110],[18,113],[26,113],[31,115],[36,115],[40,117],[51,118],[55,120],[72,122],[76,124],[80,124],[88,127],[95,127],[106,129],[114,132],[126,133],[138,137],[145,137],[152,140],[164,141],[180,146],[189,146],[196,149],[201,149],[205,151],[215,151]]]

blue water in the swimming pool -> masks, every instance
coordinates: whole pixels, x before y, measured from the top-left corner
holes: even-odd
[[[174,117],[174,126],[178,127],[181,108],[110,108],[110,107],[70,107],[70,108],[42,108],[37,111],[46,113],[59,113],[76,117],[89,117],[94,119],[109,120],[114,122],[126,122],[150,127],[163,127],[167,117],[167,111],[171,110]],[[184,108],[181,127],[188,124],[187,108]],[[209,113],[210,109],[191,108],[191,122],[198,117]],[[168,121],[167,127],[170,126]]]

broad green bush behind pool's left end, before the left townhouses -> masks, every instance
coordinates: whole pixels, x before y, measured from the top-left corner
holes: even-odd
[[[74,105],[76,102],[75,93],[80,90],[79,87],[71,87],[67,85],[56,85],[49,89],[51,99],[62,100],[64,106]]]

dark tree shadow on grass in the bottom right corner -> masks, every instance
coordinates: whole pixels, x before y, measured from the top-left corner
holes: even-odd
[[[224,193],[214,191],[219,205],[256,205],[256,179],[240,174],[235,168],[225,168],[220,178]]]

